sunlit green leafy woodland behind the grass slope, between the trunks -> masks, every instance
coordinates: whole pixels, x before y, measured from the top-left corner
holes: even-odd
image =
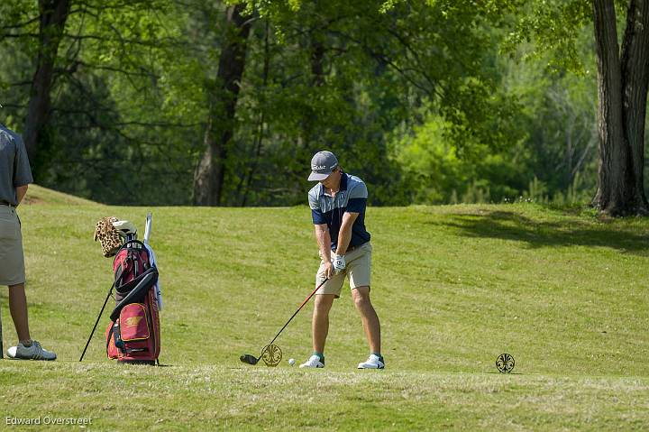
[[[233,4],[76,5],[37,181],[109,203],[189,204]],[[0,5],[1,120],[18,132],[38,32],[35,3],[21,5]],[[550,201],[593,188],[588,2],[246,5],[225,205],[303,203],[308,161],[324,148],[365,179],[374,205],[510,201],[534,179]]]

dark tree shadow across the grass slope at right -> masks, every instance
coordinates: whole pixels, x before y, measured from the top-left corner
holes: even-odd
[[[644,232],[629,228],[595,225],[579,219],[547,222],[515,212],[480,210],[479,214],[452,214],[451,220],[425,222],[452,227],[468,237],[496,238],[526,243],[529,247],[600,246],[621,253],[649,256]]]

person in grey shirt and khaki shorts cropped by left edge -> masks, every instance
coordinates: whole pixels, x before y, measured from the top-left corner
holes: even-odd
[[[18,345],[9,348],[7,355],[23,360],[54,360],[56,354],[32,341],[27,321],[23,234],[16,207],[32,181],[23,140],[0,124],[0,285],[9,287],[9,310],[18,333]]]

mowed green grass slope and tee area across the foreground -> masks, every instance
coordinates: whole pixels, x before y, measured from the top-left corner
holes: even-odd
[[[314,288],[308,208],[151,208],[164,367],[129,367],[105,358],[106,312],[78,363],[112,282],[92,235],[103,216],[143,230],[149,209],[38,187],[29,197],[32,337],[59,360],[0,361],[2,427],[49,416],[92,418],[90,430],[649,429],[647,220],[529,204],[370,207],[387,369],[355,369],[368,353],[345,288],[326,369],[304,371],[287,360],[311,354],[312,303],[279,337],[277,368],[239,355],[258,354]],[[15,333],[1,292],[6,349]],[[501,353],[514,373],[497,372]]]

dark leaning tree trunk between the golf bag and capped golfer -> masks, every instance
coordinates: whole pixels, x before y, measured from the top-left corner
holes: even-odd
[[[234,134],[234,114],[245,67],[251,17],[242,16],[245,5],[226,9],[223,48],[215,85],[208,86],[208,117],[204,143],[206,151],[194,174],[194,203],[219,206],[223,188],[228,146]]]

